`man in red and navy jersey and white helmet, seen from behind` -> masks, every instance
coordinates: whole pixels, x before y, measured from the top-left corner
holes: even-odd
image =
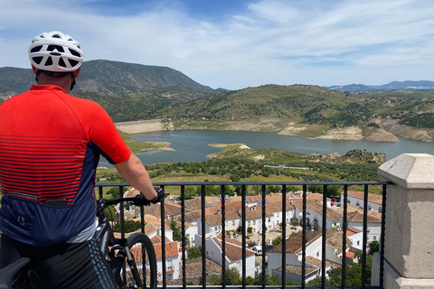
[[[115,288],[92,238],[99,154],[147,200],[156,191],[106,111],[69,95],[80,74],[79,42],[61,32],[33,38],[37,85],[0,106],[0,268],[21,256],[47,288]]]

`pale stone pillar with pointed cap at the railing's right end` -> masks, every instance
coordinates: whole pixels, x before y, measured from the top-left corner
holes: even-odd
[[[401,154],[378,173],[387,186],[384,287],[434,288],[434,156]],[[373,258],[378,284],[379,258]]]

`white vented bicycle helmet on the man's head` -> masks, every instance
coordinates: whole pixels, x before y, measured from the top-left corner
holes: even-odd
[[[33,37],[29,59],[38,70],[72,72],[80,68],[83,53],[70,35],[52,31]]]

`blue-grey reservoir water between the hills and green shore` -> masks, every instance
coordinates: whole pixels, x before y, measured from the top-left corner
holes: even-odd
[[[216,130],[171,130],[130,135],[136,142],[169,142],[175,151],[154,151],[137,154],[145,164],[206,161],[206,155],[222,149],[209,144],[246,144],[250,148],[274,148],[302,154],[346,154],[354,149],[386,154],[390,160],[400,154],[434,154],[434,144],[399,138],[398,143],[375,143],[367,140],[343,141],[306,139],[278,133]],[[111,167],[101,158],[99,166]]]

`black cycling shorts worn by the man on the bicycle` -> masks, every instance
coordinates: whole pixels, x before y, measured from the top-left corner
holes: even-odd
[[[118,288],[97,242],[34,247],[2,236],[0,268],[22,256],[32,259],[33,270],[45,288]],[[37,283],[37,282],[34,282]]]

